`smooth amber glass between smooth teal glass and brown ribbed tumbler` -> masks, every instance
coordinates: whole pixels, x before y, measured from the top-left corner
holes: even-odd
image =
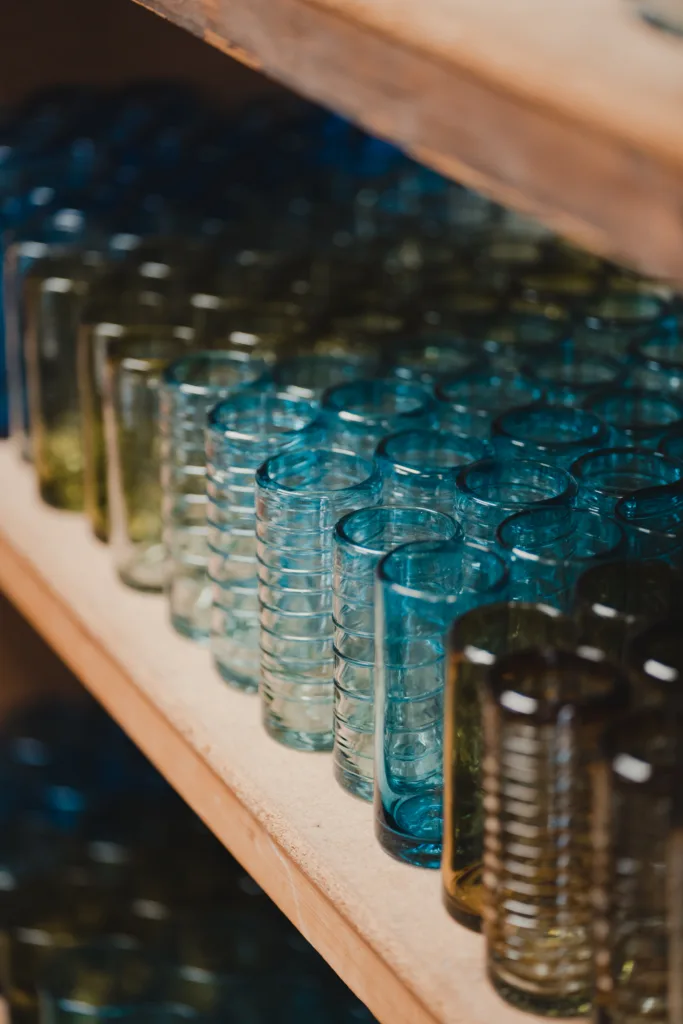
[[[498,658],[533,646],[573,650],[568,616],[544,604],[514,600],[466,611],[449,635],[443,735],[443,902],[472,931],[481,928],[483,683]]]

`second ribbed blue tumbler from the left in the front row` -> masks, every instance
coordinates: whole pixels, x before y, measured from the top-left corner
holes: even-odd
[[[258,388],[209,413],[206,432],[211,653],[223,679],[256,691],[259,677],[256,470],[280,452],[322,441],[317,403]]]

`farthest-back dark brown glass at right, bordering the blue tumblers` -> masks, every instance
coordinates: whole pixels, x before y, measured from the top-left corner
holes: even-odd
[[[682,586],[664,561],[622,559],[586,569],[577,581],[574,604],[582,643],[624,664],[638,633],[675,613]]]

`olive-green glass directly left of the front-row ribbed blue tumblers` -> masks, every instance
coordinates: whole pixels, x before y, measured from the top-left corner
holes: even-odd
[[[104,369],[110,541],[120,579],[136,590],[161,591],[167,582],[159,399],[163,373],[184,347],[163,330],[128,336],[110,346]]]

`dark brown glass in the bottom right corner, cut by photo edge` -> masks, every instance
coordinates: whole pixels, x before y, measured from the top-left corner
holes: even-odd
[[[594,1012],[601,1024],[673,1021],[681,1007],[674,894],[682,740],[680,710],[639,709],[607,730],[593,767]]]

